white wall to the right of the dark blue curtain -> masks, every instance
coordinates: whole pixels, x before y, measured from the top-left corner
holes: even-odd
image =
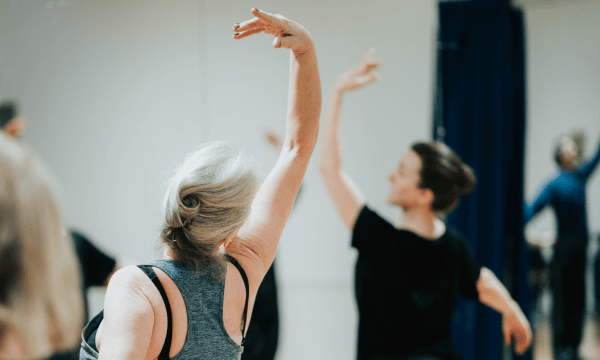
[[[525,174],[529,198],[556,169],[553,151],[561,134],[584,131],[586,156],[600,141],[600,2],[522,3],[527,35]],[[597,233],[600,175],[591,178],[587,191],[590,231]],[[553,217],[552,211],[545,211],[532,228],[552,238]]]

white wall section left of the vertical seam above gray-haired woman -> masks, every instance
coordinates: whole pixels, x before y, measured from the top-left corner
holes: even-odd
[[[3,99],[59,178],[67,223],[152,258],[165,172],[206,140],[197,1],[13,1]]]

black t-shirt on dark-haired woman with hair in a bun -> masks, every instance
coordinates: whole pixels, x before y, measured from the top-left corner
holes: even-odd
[[[399,230],[368,207],[356,220],[358,359],[457,357],[450,340],[458,296],[477,299],[481,266],[452,229],[436,240]]]

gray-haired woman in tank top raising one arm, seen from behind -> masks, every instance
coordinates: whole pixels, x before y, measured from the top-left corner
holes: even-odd
[[[191,154],[165,195],[166,251],[112,278],[83,332],[81,359],[239,359],[258,287],[317,139],[321,85],[309,32],[252,9],[234,39],[264,32],[291,50],[286,136],[259,186],[253,161],[227,143]]]

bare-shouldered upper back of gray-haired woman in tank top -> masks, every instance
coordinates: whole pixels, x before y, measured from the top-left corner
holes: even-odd
[[[217,283],[178,261],[163,259],[150,265],[170,303],[173,333],[169,357],[239,359],[246,294],[241,275],[232,269],[233,265],[228,265],[225,280]],[[107,354],[109,358],[114,351],[127,358],[131,354],[136,359],[156,359],[167,335],[165,302],[141,270],[130,267],[126,271],[129,274],[121,276],[127,278],[127,287],[137,289],[120,291],[118,282],[122,279],[118,276],[113,289],[109,285],[104,320],[96,335],[97,347],[102,356]],[[144,314],[129,315],[137,309]],[[136,351],[141,354],[135,355]]]

